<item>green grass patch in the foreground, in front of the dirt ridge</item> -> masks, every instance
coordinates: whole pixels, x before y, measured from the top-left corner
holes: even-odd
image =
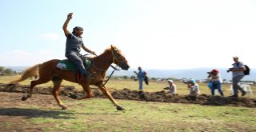
[[[254,131],[256,110],[232,106],[198,106],[165,102],[118,100],[117,111],[108,99],[66,102],[58,115],[30,118],[45,131]],[[43,108],[38,110],[45,110]],[[47,110],[46,110],[47,111]]]

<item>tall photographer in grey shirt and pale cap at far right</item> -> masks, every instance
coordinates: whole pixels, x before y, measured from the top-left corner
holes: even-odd
[[[242,89],[241,86],[238,85],[238,82],[242,80],[242,78],[245,76],[243,71],[246,70],[246,67],[243,65],[242,62],[238,62],[238,57],[233,57],[234,63],[232,64],[232,68],[229,70],[226,70],[227,72],[232,72],[232,86],[233,86],[233,92],[234,94],[230,97],[238,97],[238,90],[242,92],[241,96],[246,95],[246,91]]]

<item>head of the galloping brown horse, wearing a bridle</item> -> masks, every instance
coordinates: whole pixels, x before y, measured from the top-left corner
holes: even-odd
[[[111,45],[111,52],[113,55],[114,64],[121,67],[122,70],[128,70],[130,68],[126,58],[122,55],[121,50],[118,50],[117,47]]]

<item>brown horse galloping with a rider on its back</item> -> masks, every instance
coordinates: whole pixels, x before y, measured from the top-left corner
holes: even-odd
[[[122,52],[118,50],[115,46],[111,45],[111,48],[106,49],[102,54],[97,57],[91,58],[92,64],[89,67],[89,72],[94,73],[94,78],[86,78],[81,76],[81,78],[76,78],[76,73],[70,70],[60,70],[56,68],[56,65],[60,60],[53,59],[48,62],[43,62],[42,64],[37,64],[35,66],[30,67],[25,70],[24,74],[18,80],[14,80],[12,82],[22,82],[26,78],[30,78],[34,76],[37,72],[39,72],[38,80],[30,82],[30,91],[26,96],[22,97],[22,101],[25,101],[27,98],[32,97],[32,92],[34,86],[42,83],[49,82],[50,80],[54,82],[54,90],[52,94],[54,95],[55,100],[58,102],[58,105],[62,107],[62,109],[67,109],[67,106],[61,101],[58,96],[59,88],[61,83],[64,80],[69,82],[79,83],[83,90],[86,92],[86,96],[80,99],[91,98],[93,96],[90,85],[98,86],[102,93],[106,95],[107,98],[117,107],[118,110],[124,110],[122,106],[118,104],[110,94],[110,92],[103,85],[106,76],[106,70],[110,67],[112,63],[121,67],[122,70],[128,70],[130,66],[126,61],[126,58],[122,55]]]

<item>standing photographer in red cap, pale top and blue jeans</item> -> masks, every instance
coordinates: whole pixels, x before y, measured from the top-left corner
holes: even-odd
[[[214,96],[214,91],[217,89],[219,94],[221,94],[222,96],[224,96],[223,91],[222,91],[222,78],[221,78],[221,74],[218,72],[218,70],[214,69],[211,70],[210,72],[207,72],[208,74],[208,79],[210,80],[209,83],[211,83],[212,85],[210,86],[210,91],[211,91],[211,95]]]

